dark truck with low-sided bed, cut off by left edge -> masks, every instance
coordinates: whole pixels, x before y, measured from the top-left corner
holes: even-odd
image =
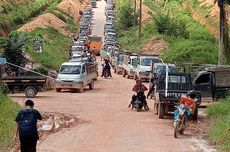
[[[34,98],[38,91],[45,89],[47,82],[45,76],[34,75],[24,69],[23,74],[18,75],[17,72],[11,70],[10,66],[7,63],[0,63],[0,83],[6,84],[10,92],[23,91],[27,98]]]

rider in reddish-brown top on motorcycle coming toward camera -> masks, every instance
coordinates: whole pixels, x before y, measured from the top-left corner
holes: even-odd
[[[145,96],[145,94],[144,94],[144,92],[147,91],[148,88],[147,88],[145,85],[142,84],[141,79],[137,79],[137,80],[136,80],[136,84],[133,86],[133,89],[132,89],[132,90],[135,91],[135,92],[140,91],[140,92],[143,93],[142,99],[141,99],[141,100],[142,100],[142,102],[144,103],[144,105],[145,105],[145,107],[146,107],[146,110],[149,110],[149,107],[148,107],[148,104],[147,104],[147,101],[146,101],[146,96]],[[131,105],[134,104],[136,98],[137,98],[137,96],[134,94],[134,95],[132,96],[132,101],[130,102],[130,104],[129,104],[128,107],[130,107]]]

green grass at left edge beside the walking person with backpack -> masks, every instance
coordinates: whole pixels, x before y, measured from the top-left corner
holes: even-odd
[[[0,151],[8,149],[15,133],[15,117],[20,106],[0,93]]]

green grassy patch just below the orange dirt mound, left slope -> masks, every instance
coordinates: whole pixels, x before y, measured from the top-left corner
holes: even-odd
[[[25,50],[32,57],[48,68],[57,69],[67,61],[68,48],[71,39],[60,34],[54,29],[36,29],[28,33],[30,36],[43,36],[43,52],[36,53],[32,48],[32,44],[26,46]]]

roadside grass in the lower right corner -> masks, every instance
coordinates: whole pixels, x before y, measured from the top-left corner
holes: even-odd
[[[230,151],[230,96],[208,107],[213,124],[208,131],[208,140],[220,151]]]

